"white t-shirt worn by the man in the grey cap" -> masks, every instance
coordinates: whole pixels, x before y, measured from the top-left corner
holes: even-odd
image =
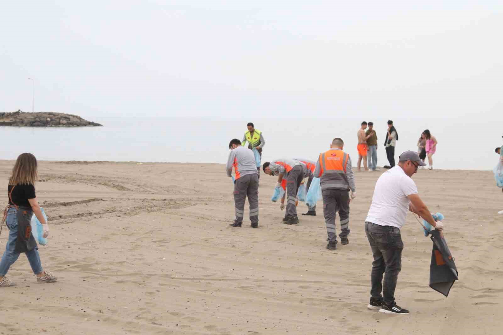
[[[410,204],[407,196],[411,194],[417,194],[414,181],[405,175],[400,166],[392,167],[377,180],[365,221],[401,228]]]

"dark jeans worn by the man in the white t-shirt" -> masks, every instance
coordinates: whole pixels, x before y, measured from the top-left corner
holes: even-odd
[[[403,242],[400,229],[365,222],[365,233],[374,256],[370,294],[374,299],[382,299],[386,304],[392,304],[395,301],[398,273],[402,268]],[[383,274],[384,282],[382,281]]]

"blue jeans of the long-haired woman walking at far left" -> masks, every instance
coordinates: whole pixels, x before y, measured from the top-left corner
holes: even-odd
[[[14,264],[18,260],[19,253],[16,253],[14,248],[16,246],[16,240],[18,239],[18,218],[16,208],[10,208],[9,212],[7,212],[7,220],[6,224],[9,228],[9,240],[5,246],[5,253],[2,256],[2,261],[0,262],[0,276],[5,276],[9,271],[11,265]],[[32,267],[34,274],[41,273],[42,264],[40,262],[40,256],[38,255],[38,247],[26,253],[26,257],[28,257],[28,262],[30,262],[30,266]]]

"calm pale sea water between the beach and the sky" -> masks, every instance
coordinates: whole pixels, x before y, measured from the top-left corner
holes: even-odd
[[[15,159],[32,152],[39,160],[114,160],[224,163],[228,143],[241,139],[246,123],[253,121],[264,133],[263,161],[301,157],[316,159],[334,137],[345,141],[345,151],[358,159],[355,119],[253,119],[210,118],[97,118],[104,127],[25,128],[0,127],[0,159]],[[378,165],[388,164],[383,146],[387,119],[372,119],[378,136]],[[494,153],[501,146],[501,122],[466,123],[463,120],[393,120],[399,140],[395,159],[416,150],[417,139],[430,129],[439,144],[436,169],[492,170]]]

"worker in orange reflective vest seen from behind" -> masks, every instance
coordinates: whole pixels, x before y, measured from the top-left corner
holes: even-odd
[[[341,219],[341,244],[349,244],[349,190],[351,199],[356,197],[355,176],[353,175],[351,158],[343,151],[344,141],[334,138],[330,150],[320,153],[316,162],[314,177],[320,178],[321,194],[323,196],[323,215],[325,217],[326,233],[328,234],[328,250],[335,250],[337,244],[336,212]]]

